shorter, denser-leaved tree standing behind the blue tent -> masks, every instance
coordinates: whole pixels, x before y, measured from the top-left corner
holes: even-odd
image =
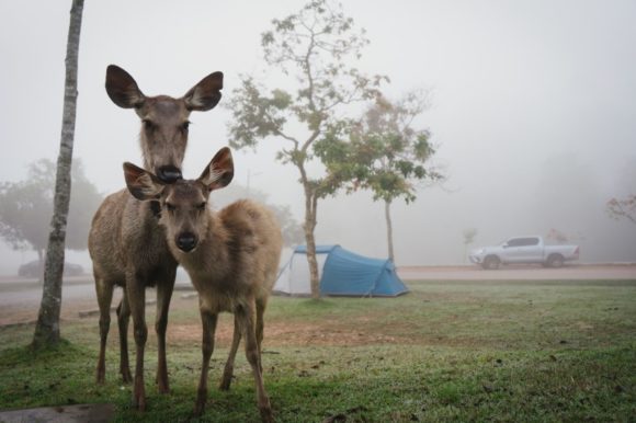
[[[357,125],[334,128],[317,142],[316,151],[333,179],[349,192],[371,190],[383,201],[388,256],[395,261],[390,206],[397,198],[416,201],[421,184],[444,180],[429,160],[435,155],[427,129],[412,127],[425,108],[424,95],[412,91],[397,102],[378,98]]]

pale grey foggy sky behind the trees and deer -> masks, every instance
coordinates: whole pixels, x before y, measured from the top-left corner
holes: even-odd
[[[215,70],[225,73],[224,100],[241,73],[285,88],[265,68],[260,34],[303,4],[87,1],[75,157],[89,180],[110,193],[124,186],[122,162],[141,163],[138,118],[104,90],[109,64],[149,95],[182,95]],[[371,41],[357,68],[388,76],[389,98],[429,91],[416,126],[430,129],[435,164],[448,175],[414,204],[394,204],[398,265],[465,262],[468,228],[478,231],[470,247],[554,228],[581,245],[581,262],[636,261],[636,226],[604,211],[611,197],[636,192],[636,2],[347,0],[343,8]],[[29,163],[57,157],[69,10],[70,1],[0,2],[0,181],[23,180]],[[192,114],[186,178],[228,144],[229,117],[222,106]],[[235,181],[247,184],[250,174],[251,187],[302,220],[297,170],[274,160],[282,146],[268,139],[258,153],[236,151]],[[386,256],[385,232],[383,204],[367,193],[319,203],[319,243]],[[34,259],[0,245],[0,272]],[[88,254],[69,261],[88,264]]]

